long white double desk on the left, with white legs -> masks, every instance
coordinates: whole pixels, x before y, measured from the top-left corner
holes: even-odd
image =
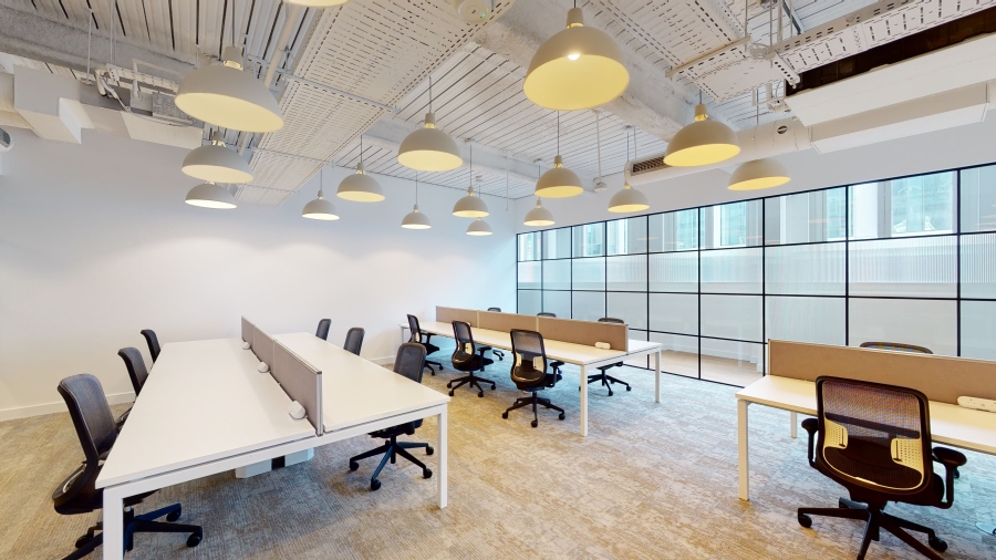
[[[104,511],[114,512],[104,516],[105,559],[123,557],[117,512],[128,496],[433,415],[439,422],[439,507],[446,507],[448,396],[309,333],[276,339],[328,375],[328,432],[317,437],[307,419],[288,415],[290,398],[270,374],[257,371],[259,362],[240,339],[165,344],[96,480]],[[354,371],[360,373],[351,378]],[[382,385],[390,387],[386,398]],[[382,398],[374,401],[374,393]]]

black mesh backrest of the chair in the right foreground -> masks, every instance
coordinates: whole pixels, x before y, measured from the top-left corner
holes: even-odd
[[[839,377],[817,378],[818,460],[845,485],[916,494],[933,476],[923,393]]]

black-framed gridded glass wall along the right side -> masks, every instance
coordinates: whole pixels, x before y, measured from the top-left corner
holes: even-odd
[[[613,317],[733,385],[770,339],[996,360],[996,165],[518,236],[519,313]],[[646,367],[641,359],[632,363]]]

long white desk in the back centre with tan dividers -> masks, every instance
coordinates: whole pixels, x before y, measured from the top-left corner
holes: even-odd
[[[408,329],[407,323],[400,324],[402,330],[402,340],[408,340],[405,331]],[[424,332],[433,333],[437,336],[453,338],[453,323],[444,323],[439,321],[426,321],[418,325]],[[474,342],[484,346],[495,346],[504,350],[511,350],[511,336],[507,332],[491,331],[489,329],[471,329]],[[602,350],[594,346],[585,346],[583,344],[574,344],[571,342],[561,342],[557,340],[543,339],[543,349],[547,351],[547,357],[550,360],[559,360],[564,363],[577,365],[581,369],[581,435],[588,435],[588,372],[601,365],[610,365],[633,357],[653,354],[654,356],[654,402],[661,402],[661,346],[660,342],[647,342],[642,340],[629,341],[629,351],[622,350]]]

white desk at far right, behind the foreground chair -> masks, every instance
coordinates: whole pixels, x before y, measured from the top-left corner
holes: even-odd
[[[739,495],[741,500],[750,499],[747,407],[753,403],[816,416],[816,383],[768,375],[737,393]],[[931,439],[934,443],[996,455],[996,414],[934,401],[930,402],[930,407]]]

